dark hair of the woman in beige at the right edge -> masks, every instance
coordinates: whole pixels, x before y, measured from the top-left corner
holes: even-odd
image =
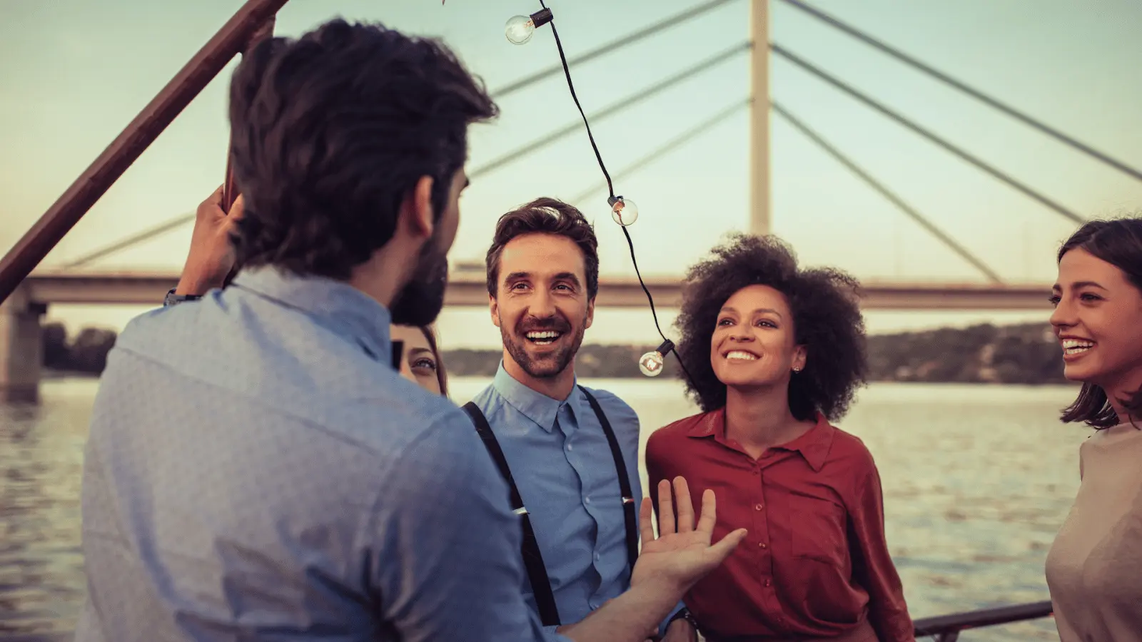
[[[1092,220],[1063,243],[1059,260],[1067,252],[1081,249],[1105,260],[1126,274],[1126,279],[1142,292],[1142,218]],[[1119,400],[1132,418],[1142,418],[1142,388]],[[1119,417],[1110,406],[1107,391],[1094,384],[1083,384],[1078,399],[1062,410],[1062,420],[1084,422],[1097,430],[1117,426],[1128,417]]]

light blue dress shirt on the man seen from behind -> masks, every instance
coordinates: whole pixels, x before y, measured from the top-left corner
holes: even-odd
[[[507,487],[337,281],[239,274],[132,320],[83,465],[78,642],[540,640]]]

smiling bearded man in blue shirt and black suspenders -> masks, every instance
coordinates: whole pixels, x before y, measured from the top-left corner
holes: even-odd
[[[524,591],[554,636],[630,585],[642,501],[638,417],[576,379],[598,290],[597,240],[578,209],[541,198],[505,214],[486,268],[504,360],[465,410],[514,482]],[[697,640],[687,616],[678,604],[654,636]]]

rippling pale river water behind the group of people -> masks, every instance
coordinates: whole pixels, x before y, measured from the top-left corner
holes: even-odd
[[[676,382],[587,380],[625,399],[650,432],[695,408]],[[456,378],[466,401],[488,384]],[[0,404],[0,641],[70,640],[85,595],[80,475],[93,379],[42,384],[39,406]],[[1046,600],[1043,564],[1078,490],[1064,386],[875,384],[839,425],[872,451],[887,537],[912,617]],[[645,484],[645,471],[643,472]],[[1057,640],[1051,620],[962,641]]]

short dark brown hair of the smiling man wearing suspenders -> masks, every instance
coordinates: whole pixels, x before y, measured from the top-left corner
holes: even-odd
[[[488,294],[496,297],[504,246],[516,236],[532,233],[565,236],[579,246],[587,267],[587,298],[594,300],[598,294],[598,240],[595,238],[595,228],[576,207],[546,196],[505,214],[496,223],[496,235],[492,236],[485,258]]]

